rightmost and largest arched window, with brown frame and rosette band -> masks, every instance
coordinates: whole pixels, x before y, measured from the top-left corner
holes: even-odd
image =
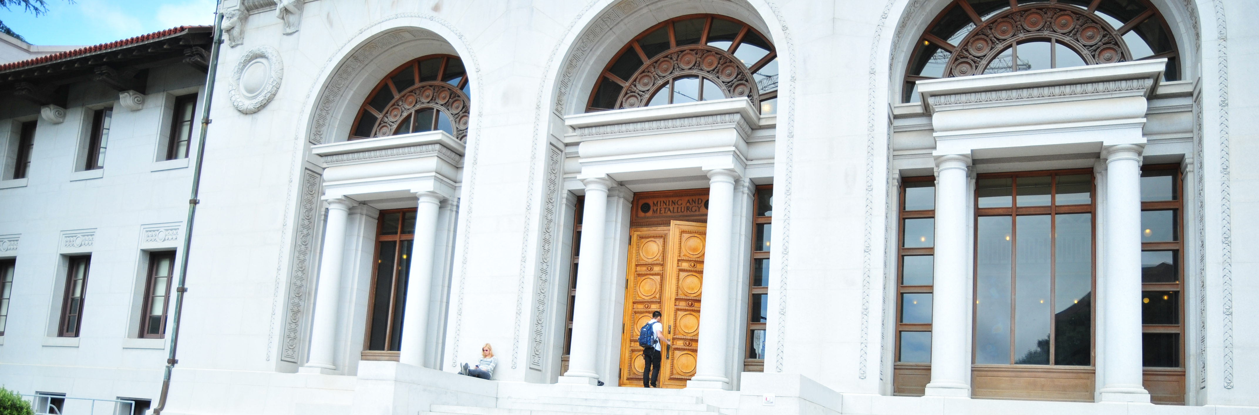
[[[953,0],[914,47],[904,102],[917,82],[973,74],[1167,58],[1180,79],[1176,43],[1148,0]]]

